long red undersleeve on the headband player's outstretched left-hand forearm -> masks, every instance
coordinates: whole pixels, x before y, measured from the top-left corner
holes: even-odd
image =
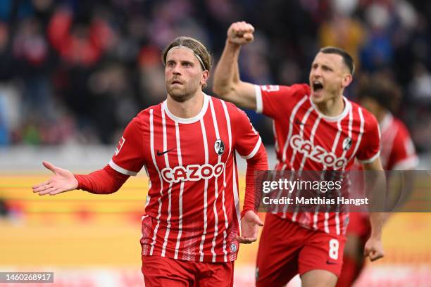
[[[109,165],[102,170],[96,170],[90,174],[74,174],[78,181],[78,189],[96,194],[109,194],[118,191],[129,175],[115,172]]]

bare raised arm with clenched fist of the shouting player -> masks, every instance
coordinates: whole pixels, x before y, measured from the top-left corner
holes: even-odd
[[[253,41],[254,27],[237,22],[227,30],[225,49],[215,68],[213,89],[215,94],[242,108],[256,110],[254,85],[239,79],[238,56],[242,45]]]

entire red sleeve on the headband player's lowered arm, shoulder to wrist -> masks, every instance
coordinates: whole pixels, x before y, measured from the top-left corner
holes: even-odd
[[[248,210],[257,211],[258,200],[255,193],[256,170],[268,170],[268,157],[265,146],[262,144],[261,136],[251,125],[249,117],[237,109],[235,125],[235,149],[247,160],[246,189],[244,197],[244,208],[241,217]]]

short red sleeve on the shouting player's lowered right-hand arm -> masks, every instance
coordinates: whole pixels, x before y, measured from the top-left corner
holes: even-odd
[[[364,128],[356,158],[361,163],[369,163],[380,155],[380,129],[374,115],[364,109],[361,109],[361,111],[363,113]]]

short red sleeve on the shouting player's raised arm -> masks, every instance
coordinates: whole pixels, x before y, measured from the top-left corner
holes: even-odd
[[[310,87],[307,84],[255,86],[255,89],[256,112],[273,119],[289,116],[294,104],[310,94]]]

